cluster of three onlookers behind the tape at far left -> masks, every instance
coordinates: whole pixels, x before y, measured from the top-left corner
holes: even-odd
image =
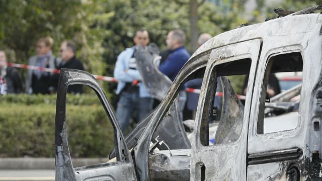
[[[62,69],[72,68],[84,70],[81,61],[76,59],[76,46],[72,41],[63,41],[60,46],[60,57],[52,54],[53,39],[51,37],[40,38],[36,42],[37,55],[29,58],[28,65]],[[0,50],[0,94],[22,93],[22,80],[17,69],[7,66],[7,58],[4,50]],[[57,90],[59,74],[41,70],[28,69],[26,76],[27,94],[54,94]],[[68,93],[83,93],[82,85],[71,85]]]

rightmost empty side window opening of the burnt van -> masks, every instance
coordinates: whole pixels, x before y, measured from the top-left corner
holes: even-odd
[[[303,60],[299,52],[269,58],[260,96],[257,134],[297,127],[302,69]],[[278,84],[274,84],[274,80]]]

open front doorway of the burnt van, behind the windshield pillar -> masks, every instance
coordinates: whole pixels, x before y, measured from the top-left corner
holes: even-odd
[[[161,121],[153,133],[149,147],[149,172],[155,180],[169,180],[169,177],[171,178],[173,175],[178,180],[189,180],[192,151],[190,142],[194,120],[189,116],[187,120],[187,114],[181,114],[180,99],[182,92],[195,94],[199,97],[199,93],[194,93],[194,91],[200,92],[198,86],[201,86],[205,66],[206,61],[198,69],[187,71],[186,77],[180,84],[174,84],[178,87],[178,92],[174,95],[175,99],[167,103],[170,107],[166,114],[160,118]],[[194,101],[198,105],[198,99],[194,99]],[[166,167],[164,160],[167,162]]]

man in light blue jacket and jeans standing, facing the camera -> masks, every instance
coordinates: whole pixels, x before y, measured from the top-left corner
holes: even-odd
[[[136,111],[136,121],[139,122],[152,110],[153,99],[147,93],[142,82],[141,75],[136,69],[136,47],[143,48],[149,43],[147,31],[140,30],[133,38],[135,46],[125,49],[117,57],[114,69],[114,77],[118,80],[116,94],[120,95],[116,108],[116,118],[122,131],[129,124],[132,113]]]

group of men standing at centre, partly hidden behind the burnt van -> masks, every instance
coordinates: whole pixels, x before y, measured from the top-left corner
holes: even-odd
[[[211,38],[209,34],[201,34],[198,39],[198,46],[208,41]],[[160,53],[162,57],[158,69],[167,75],[172,81],[183,65],[190,58],[189,51],[185,48],[186,36],[182,30],[173,30],[168,33],[167,36],[167,50]],[[153,99],[146,91],[144,84],[141,82],[142,77],[139,71],[136,69],[135,53],[138,46],[143,48],[147,47],[149,43],[149,35],[145,30],[139,30],[133,37],[134,46],[127,48],[118,56],[114,77],[118,80],[118,86],[116,93],[119,95],[119,101],[116,108],[116,117],[120,123],[121,130],[124,132],[129,124],[130,118],[135,112],[135,121],[139,122],[152,110]],[[246,90],[248,76],[245,78],[243,90]],[[218,78],[217,82],[220,82]],[[190,88],[200,89],[202,84],[202,78],[190,80],[185,83],[185,86]],[[272,97],[280,93],[277,78],[274,74],[270,75],[267,92],[269,97]],[[218,83],[217,92],[220,91],[221,84]],[[244,91],[245,92],[245,91]],[[183,87],[179,93],[179,108],[183,118],[194,118],[199,94],[187,93]],[[215,99],[214,106],[220,109],[221,98]],[[186,108],[186,109],[185,109]],[[185,109],[185,111],[184,111]],[[187,117],[185,117],[187,115]]]

